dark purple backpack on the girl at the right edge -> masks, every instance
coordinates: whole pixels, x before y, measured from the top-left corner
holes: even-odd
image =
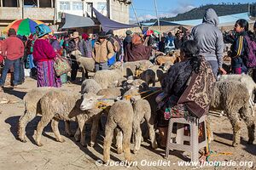
[[[248,68],[256,66],[256,42],[252,38],[245,36],[247,41],[247,48],[245,54],[246,65]]]

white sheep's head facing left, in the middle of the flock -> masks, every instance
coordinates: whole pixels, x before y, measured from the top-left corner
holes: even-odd
[[[82,103],[80,105],[81,111],[86,111],[90,109],[95,109],[98,103],[98,99],[102,99],[103,96],[98,96],[96,94],[88,93],[82,95]]]

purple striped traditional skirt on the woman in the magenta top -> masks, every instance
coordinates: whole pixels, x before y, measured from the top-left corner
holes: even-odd
[[[61,87],[61,77],[55,75],[54,60],[38,61],[38,87]]]

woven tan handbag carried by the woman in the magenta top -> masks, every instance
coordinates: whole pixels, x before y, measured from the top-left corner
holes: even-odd
[[[54,68],[55,68],[56,75],[58,77],[72,70],[67,60],[61,58],[61,56],[58,54],[57,54],[57,57],[55,58]]]

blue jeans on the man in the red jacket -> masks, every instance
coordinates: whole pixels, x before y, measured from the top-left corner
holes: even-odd
[[[14,65],[14,68],[15,68],[13,84],[14,84],[14,86],[18,85],[18,82],[20,79],[20,77],[19,77],[19,75],[20,75],[20,59],[15,59],[15,60],[5,59],[4,65],[3,65],[2,76],[0,79],[0,87],[3,87],[7,73],[12,65]]]

